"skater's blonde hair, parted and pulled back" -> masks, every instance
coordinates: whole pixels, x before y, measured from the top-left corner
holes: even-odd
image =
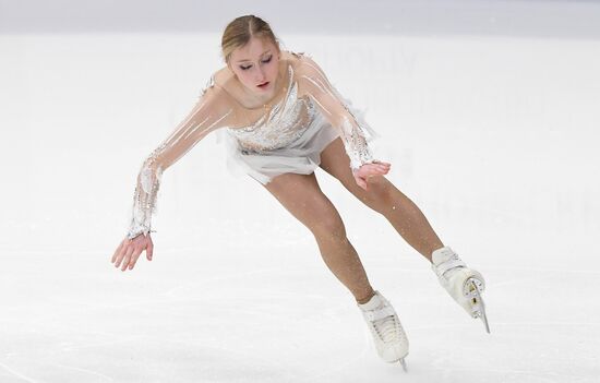
[[[279,49],[279,41],[268,23],[259,16],[249,14],[237,17],[225,27],[220,39],[223,59],[229,63],[233,50],[247,45],[252,37],[266,38]]]

